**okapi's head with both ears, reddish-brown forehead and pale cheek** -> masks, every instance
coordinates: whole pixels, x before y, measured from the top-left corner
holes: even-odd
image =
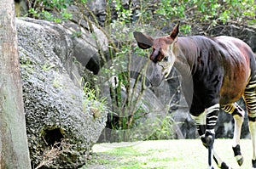
[[[134,31],[133,36],[139,48],[152,48],[149,59],[153,61],[152,75],[149,81],[152,86],[159,86],[160,82],[170,74],[175,61],[173,44],[177,42],[179,23],[173,28],[170,35],[166,37],[149,37],[142,32]]]

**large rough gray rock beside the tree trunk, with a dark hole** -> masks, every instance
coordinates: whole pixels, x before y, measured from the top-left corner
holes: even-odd
[[[61,25],[32,19],[16,23],[32,168],[78,168],[105,127],[108,111],[79,87],[83,70]]]

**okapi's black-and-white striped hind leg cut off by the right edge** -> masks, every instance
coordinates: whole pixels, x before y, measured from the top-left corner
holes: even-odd
[[[244,92],[247,104],[249,130],[253,141],[253,168],[256,168],[256,81],[249,82]]]

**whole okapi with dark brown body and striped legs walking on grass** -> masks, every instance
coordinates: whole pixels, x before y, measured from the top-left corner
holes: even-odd
[[[235,37],[177,37],[179,23],[166,37],[150,37],[134,31],[139,48],[152,48],[149,58],[154,65],[149,81],[152,86],[169,75],[174,66],[182,76],[184,97],[195,120],[202,143],[208,149],[208,168],[212,159],[222,169],[230,168],[213,150],[214,127],[218,111],[233,115],[235,120],[232,145],[239,166],[243,163],[240,149],[244,110],[236,104],[241,97],[247,106],[249,130],[253,141],[253,168],[256,168],[256,55],[247,43]]]

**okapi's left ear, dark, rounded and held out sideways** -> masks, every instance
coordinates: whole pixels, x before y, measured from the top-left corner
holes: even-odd
[[[152,37],[146,36],[140,31],[134,31],[133,36],[139,48],[147,49],[153,46],[154,39]]]

